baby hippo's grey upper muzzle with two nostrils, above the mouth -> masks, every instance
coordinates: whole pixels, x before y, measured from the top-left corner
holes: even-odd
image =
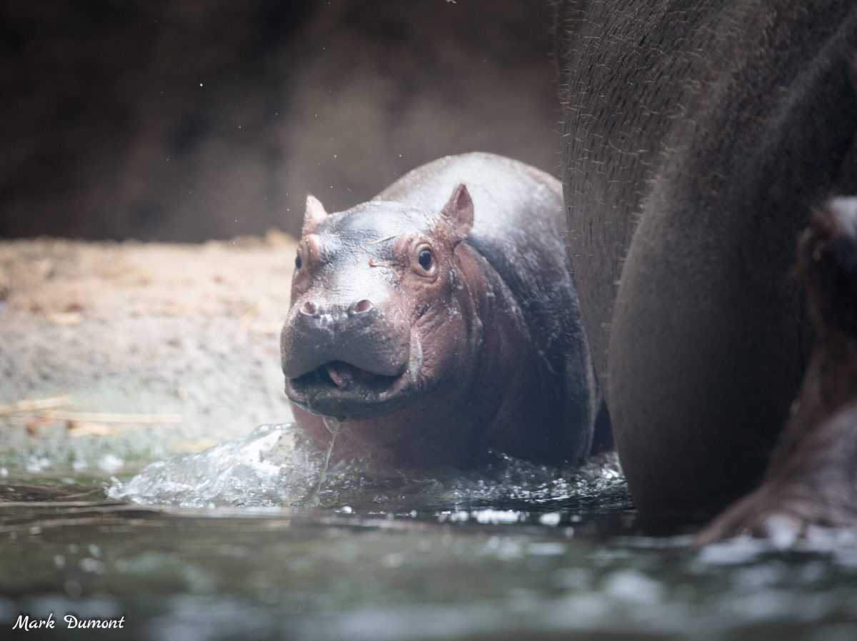
[[[333,363],[351,366],[327,368],[334,382],[350,381],[355,373],[398,376],[408,368],[411,327],[399,310],[384,309],[368,298],[325,303],[321,297],[305,297],[291,309],[280,347],[289,379]],[[341,374],[345,371],[347,376]]]

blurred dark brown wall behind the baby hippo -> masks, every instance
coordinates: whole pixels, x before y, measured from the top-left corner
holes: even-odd
[[[3,0],[0,237],[297,233],[417,165],[556,173],[545,0]]]

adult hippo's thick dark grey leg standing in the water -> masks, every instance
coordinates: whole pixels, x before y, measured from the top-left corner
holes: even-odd
[[[782,82],[770,57],[713,87],[651,184],[622,267],[607,380],[617,450],[647,516],[707,517],[764,477],[809,356],[794,242],[831,193],[857,193],[854,21],[787,89],[771,88],[758,117],[745,116],[761,100],[752,78]]]

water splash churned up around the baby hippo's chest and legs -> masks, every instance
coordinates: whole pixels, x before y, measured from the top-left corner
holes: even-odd
[[[325,452],[304,445],[291,424],[263,425],[204,452],[151,464],[128,482],[114,479],[107,493],[144,505],[323,506],[415,516],[484,509],[617,512],[631,507],[614,454],[578,469],[495,453],[490,464],[475,470],[379,470],[362,460],[328,464]]]

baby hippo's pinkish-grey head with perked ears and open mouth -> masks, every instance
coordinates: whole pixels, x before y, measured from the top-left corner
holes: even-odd
[[[440,212],[369,201],[328,214],[309,196],[280,339],[291,401],[368,420],[462,367],[473,339],[458,309],[456,248],[472,222],[464,185]]]

